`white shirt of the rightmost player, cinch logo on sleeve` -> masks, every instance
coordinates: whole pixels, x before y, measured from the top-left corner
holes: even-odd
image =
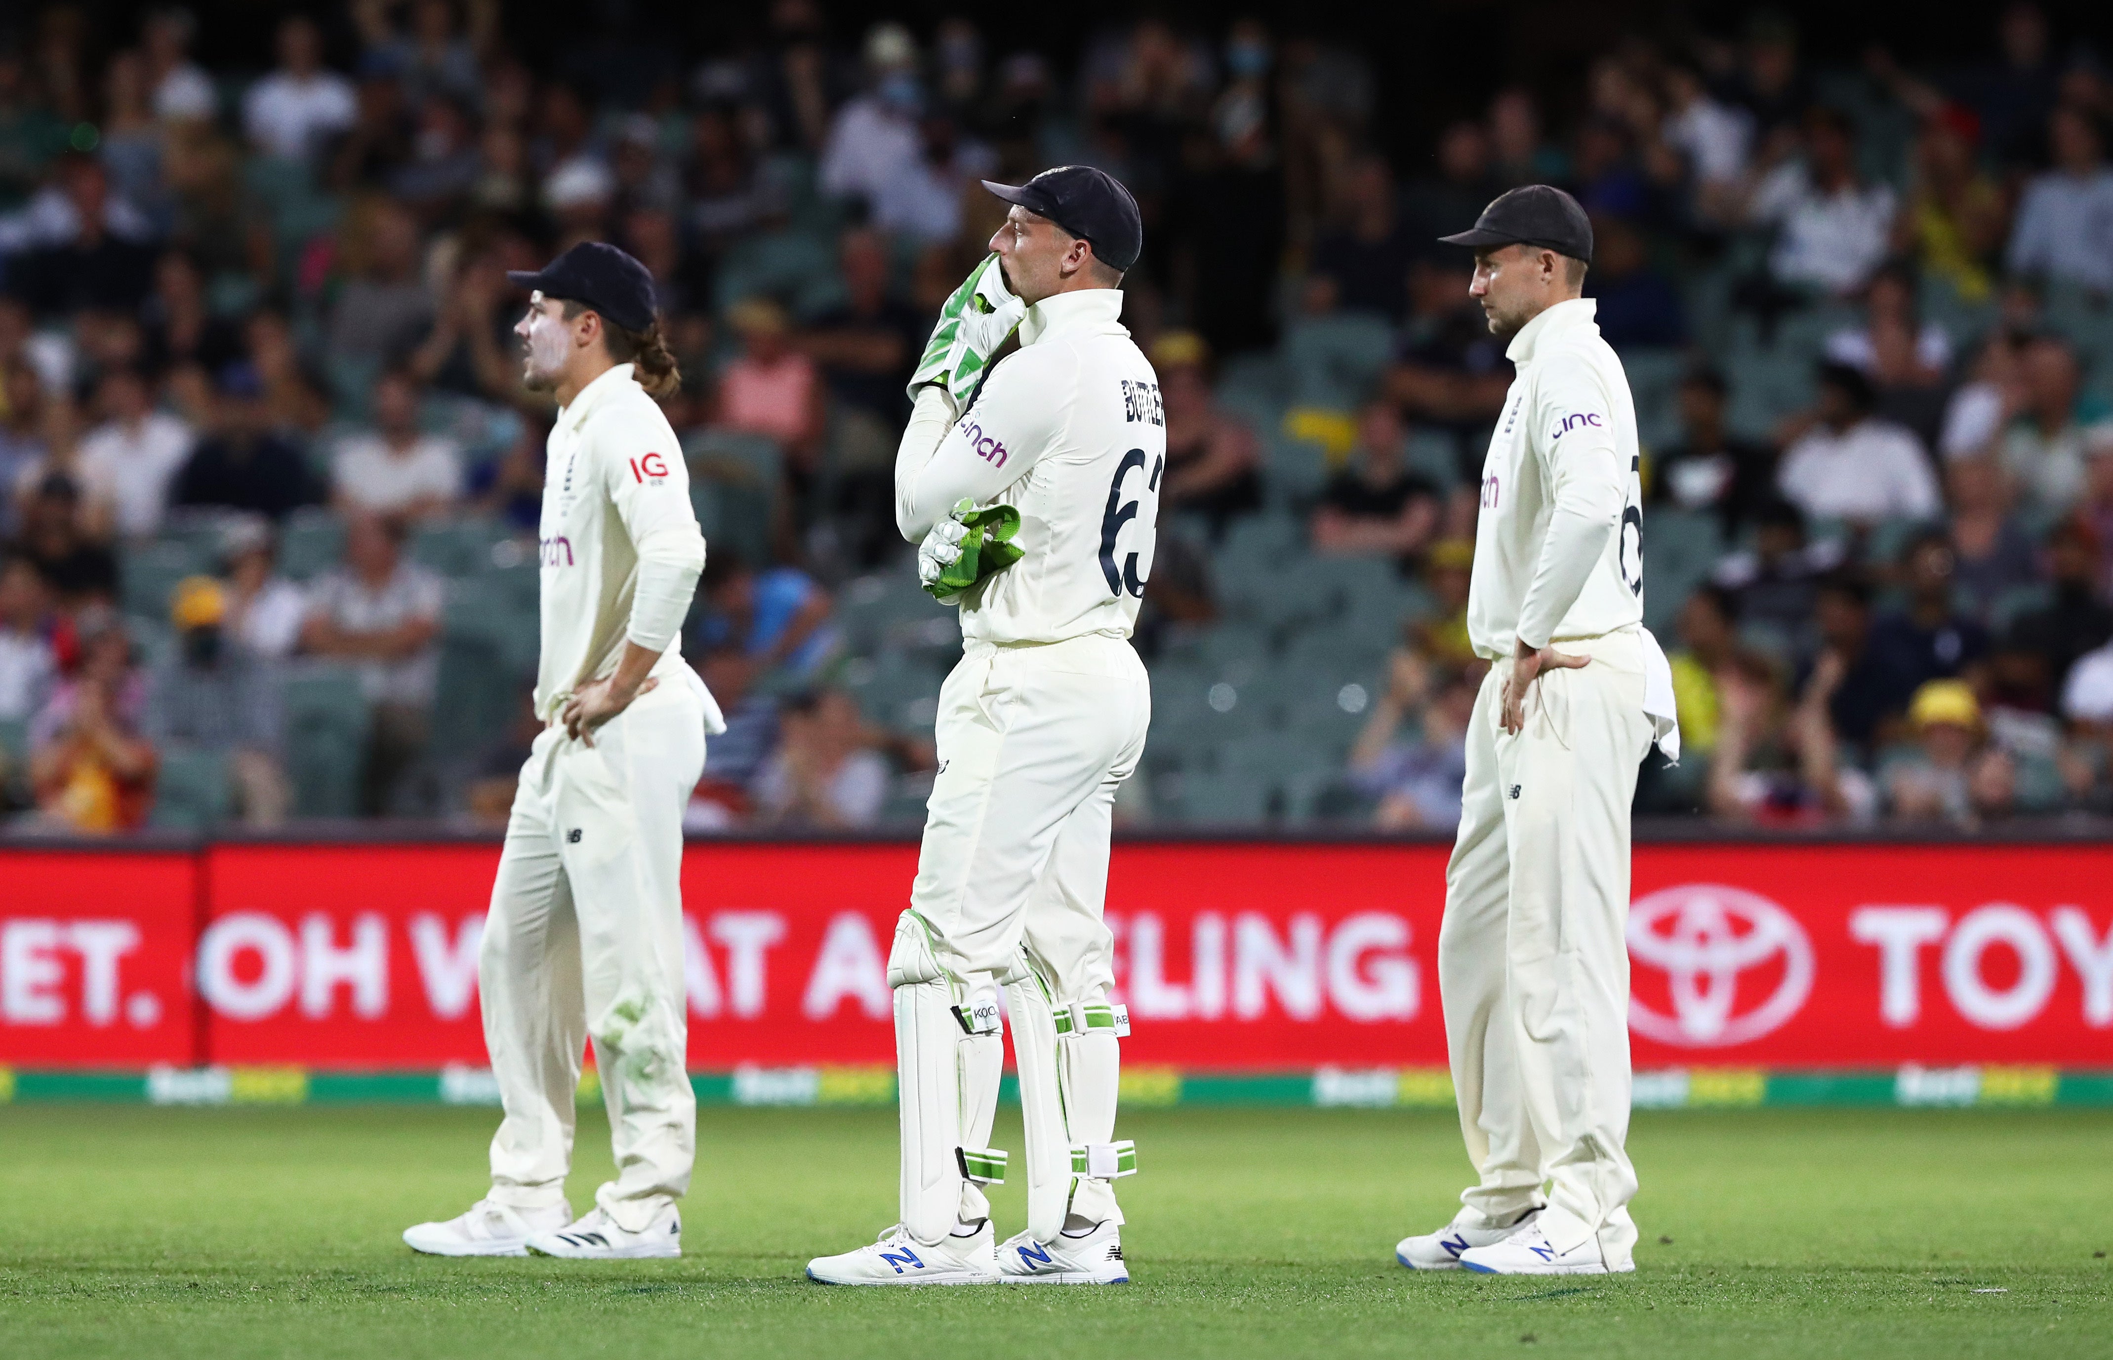
[[[1500,661],[1523,638],[1597,638],[1644,621],[1644,494],[1629,378],[1572,298],[1511,338],[1517,365],[1481,465],[1466,634]]]

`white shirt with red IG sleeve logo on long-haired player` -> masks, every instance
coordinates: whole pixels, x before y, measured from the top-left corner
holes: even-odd
[[[704,570],[682,446],[630,363],[611,367],[558,412],[547,450],[537,528],[543,655],[535,686],[535,712],[545,722],[575,688],[615,672],[625,642],[661,653],[651,676],[689,676],[678,634]],[[706,716],[723,731],[710,699]]]

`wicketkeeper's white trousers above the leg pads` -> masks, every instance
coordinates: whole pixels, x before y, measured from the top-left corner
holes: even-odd
[[[1059,1007],[1116,984],[1107,847],[1149,724],[1145,663],[1122,638],[968,644],[938,695],[911,887],[953,978],[1006,974],[1025,944]]]

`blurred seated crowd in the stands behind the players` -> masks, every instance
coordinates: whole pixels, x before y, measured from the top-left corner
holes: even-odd
[[[951,619],[909,612],[902,382],[1002,218],[978,180],[1059,163],[1145,215],[1124,319],[1168,473],[1141,644],[1221,714],[1207,667],[1249,638],[1363,667],[1257,815],[1458,817],[1511,367],[1435,237],[1523,182],[1593,213],[1587,291],[1644,420],[1686,758],[1640,811],[2113,813],[2113,84],[2033,4],[1976,11],[1984,55],[1931,70],[1813,68],[1773,13],[1640,32],[1578,106],[1502,87],[1414,148],[1354,34],[1109,21],[1059,61],[771,0],[750,38],[630,72],[532,70],[516,19],[351,0],[279,19],[268,70],[182,8],[0,19],[17,824],[505,817],[532,718],[486,634],[535,627],[492,610],[532,577],[549,422],[505,270],[581,239],[653,270],[685,374],[712,543],[685,650],[731,722],[691,828],[915,817]],[[1261,543],[1274,585],[1245,581]],[[1272,602],[1331,560],[1384,564],[1378,610]],[[503,701],[471,722],[450,686]],[[1204,722],[1154,735],[1126,817],[1221,807],[1194,798]]]

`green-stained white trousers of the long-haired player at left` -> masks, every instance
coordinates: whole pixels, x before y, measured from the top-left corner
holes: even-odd
[[[492,1200],[547,1208],[573,1164],[581,1045],[617,1178],[594,1200],[644,1231],[689,1189],[697,1098],[682,997],[682,807],[704,773],[704,686],[672,674],[594,731],[549,726],[522,767],[478,988],[505,1119]]]

